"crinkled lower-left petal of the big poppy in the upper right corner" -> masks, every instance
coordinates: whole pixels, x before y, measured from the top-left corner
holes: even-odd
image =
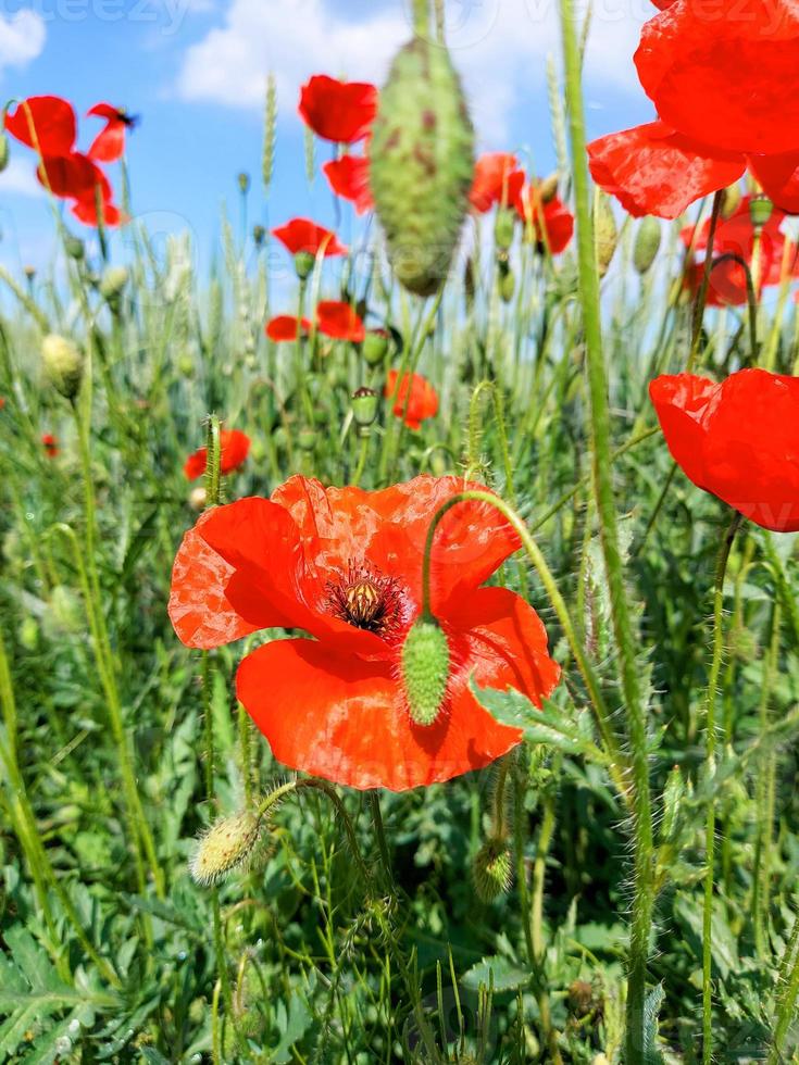
[[[632,215],[676,218],[695,200],[738,180],[742,155],[702,154],[662,122],[609,134],[588,145],[594,180]]]

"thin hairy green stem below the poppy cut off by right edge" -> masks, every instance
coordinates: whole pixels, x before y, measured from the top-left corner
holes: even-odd
[[[704,700],[706,753],[704,769],[708,781],[715,775],[716,723],[715,704],[719,677],[724,657],[724,578],[735,534],[744,521],[736,514],[726,531],[719,552],[715,572],[715,594],[713,597],[713,653]],[[713,922],[713,876],[715,852],[715,802],[711,798],[704,823],[704,903],[702,907],[702,1062],[710,1065],[713,1058],[713,1011],[712,1011],[712,922]]]

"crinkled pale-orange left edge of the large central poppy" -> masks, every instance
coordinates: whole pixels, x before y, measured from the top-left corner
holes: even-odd
[[[225,594],[234,571],[202,537],[211,514],[208,511],[186,532],[172,568],[167,613],[186,647],[221,647],[258,629],[236,613]]]

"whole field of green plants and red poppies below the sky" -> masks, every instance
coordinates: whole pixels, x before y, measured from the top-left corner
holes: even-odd
[[[0,1062],[799,1061],[799,22],[659,7],[663,121],[586,152],[561,0],[544,176],[416,0],[297,87],[355,239],[234,200],[208,276],[129,116],[7,109]]]

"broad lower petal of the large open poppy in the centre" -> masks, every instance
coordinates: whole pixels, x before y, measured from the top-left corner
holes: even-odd
[[[404,791],[478,769],[519,743],[461,685],[435,725],[414,725],[394,668],[277,640],[247,655],[236,692],[278,761],[352,788]]]

